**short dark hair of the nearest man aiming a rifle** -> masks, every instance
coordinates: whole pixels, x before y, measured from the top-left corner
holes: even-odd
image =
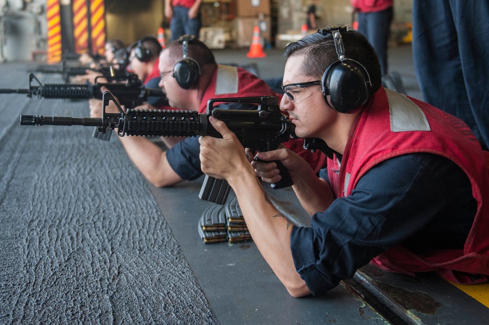
[[[365,67],[372,83],[370,93],[373,94],[382,85],[380,63],[374,48],[365,36],[356,30],[341,32],[341,37],[345,58],[355,60]],[[330,64],[338,60],[331,33],[326,35],[313,33],[290,43],[284,50],[284,56],[289,58],[295,55],[304,55],[301,72],[318,79],[321,79]]]

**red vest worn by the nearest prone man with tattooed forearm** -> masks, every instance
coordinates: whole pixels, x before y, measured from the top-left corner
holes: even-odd
[[[460,119],[426,103],[380,88],[352,128],[341,166],[328,160],[336,197],[348,196],[360,177],[388,158],[431,152],[454,161],[467,174],[477,213],[464,249],[433,250],[422,256],[398,245],[372,262],[397,273],[437,271],[458,283],[485,282],[489,275],[489,152]],[[339,173],[335,172],[339,169]]]

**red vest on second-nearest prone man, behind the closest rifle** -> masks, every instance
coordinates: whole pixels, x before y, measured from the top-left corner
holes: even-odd
[[[255,96],[276,96],[280,103],[283,95],[271,90],[262,79],[242,67],[218,65],[200,102],[199,113],[205,113],[207,102],[212,98]],[[315,173],[326,166],[326,155],[304,149],[303,139],[290,140],[284,145],[306,160]]]

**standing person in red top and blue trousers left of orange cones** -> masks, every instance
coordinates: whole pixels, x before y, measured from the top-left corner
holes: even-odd
[[[165,0],[165,17],[171,20],[171,40],[176,41],[183,35],[194,35],[199,39],[202,25],[200,3],[202,0]]]

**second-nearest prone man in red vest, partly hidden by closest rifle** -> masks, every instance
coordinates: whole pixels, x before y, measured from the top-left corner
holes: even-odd
[[[186,43],[184,43],[186,42]],[[183,36],[171,42],[159,55],[159,87],[167,95],[172,108],[205,112],[211,98],[278,96],[267,84],[244,68],[218,65],[212,51],[201,41]],[[103,89],[105,90],[105,89]],[[216,108],[255,109],[243,104],[221,104]],[[144,104],[140,109],[155,109]],[[107,111],[112,108],[108,107]],[[101,117],[101,107],[90,106],[91,117]],[[144,137],[119,137],[124,149],[141,173],[156,187],[175,185],[202,175],[200,144],[196,137],[185,139],[162,137],[170,148],[163,150]],[[300,154],[318,172],[324,167],[323,153],[306,151],[303,140],[285,145]]]

